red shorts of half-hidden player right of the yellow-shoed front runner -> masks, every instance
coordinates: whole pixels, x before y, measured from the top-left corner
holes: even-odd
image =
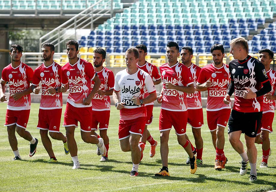
[[[203,110],[201,109],[188,109],[188,124],[192,126],[192,128],[201,128],[204,124],[203,122]]]

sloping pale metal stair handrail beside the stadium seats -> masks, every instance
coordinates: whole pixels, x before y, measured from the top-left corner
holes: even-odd
[[[104,0],[97,1],[95,4],[92,4],[91,6],[87,7],[85,10],[81,11],[79,14],[73,16],[68,21],[64,22],[63,24],[56,27],[52,31],[48,32],[46,35],[43,35],[41,38],[39,38],[39,46],[40,46],[39,49],[46,42],[54,43],[54,42],[58,41],[54,45],[58,46],[57,49],[59,52],[61,52],[60,44],[64,41],[66,41],[66,39],[63,38],[65,36],[65,34],[62,34],[63,32],[65,32],[68,29],[74,29],[75,30],[75,39],[76,39],[76,30],[77,29],[83,29],[86,26],[90,25],[91,30],[93,30],[93,22],[95,22],[97,19],[100,19],[104,14],[107,14],[109,12],[110,12],[110,18],[112,18],[112,16],[113,16],[112,15],[113,14],[113,0],[110,0],[110,9],[103,9],[103,10],[98,11],[97,13],[95,13],[95,15],[99,14],[102,11],[105,11],[105,12],[101,13],[98,17],[94,18],[93,7],[100,4],[102,1],[104,1]],[[84,19],[84,21],[82,21],[83,19]],[[88,22],[89,20],[90,20],[90,22]],[[80,22],[80,21],[82,21],[82,22]],[[78,23],[78,22],[80,22],[80,23]],[[83,27],[78,28],[85,22],[88,22],[88,23],[86,23]],[[56,33],[56,34],[54,34],[54,33]],[[46,39],[46,40],[44,40],[44,39]]]

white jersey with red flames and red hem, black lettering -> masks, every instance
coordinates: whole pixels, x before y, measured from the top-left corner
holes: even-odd
[[[120,119],[130,120],[146,117],[145,105],[137,106],[131,99],[133,97],[146,98],[148,94],[156,90],[148,73],[138,69],[136,73],[129,74],[125,69],[116,74],[114,91],[121,92],[121,102],[125,103],[124,108],[120,110]]]

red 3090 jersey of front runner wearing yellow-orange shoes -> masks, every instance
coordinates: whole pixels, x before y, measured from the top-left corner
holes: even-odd
[[[173,85],[188,86],[193,84],[190,70],[182,63],[169,66],[168,63],[160,67],[161,78],[163,81],[163,98],[161,109],[169,111],[187,111],[186,93],[176,89],[167,89],[166,82]]]

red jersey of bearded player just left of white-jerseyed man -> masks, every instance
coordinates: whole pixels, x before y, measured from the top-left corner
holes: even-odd
[[[98,77],[101,81],[99,89],[104,91],[114,88],[114,74],[111,70],[103,68],[101,71],[97,72]],[[91,88],[93,89],[95,82],[91,82]],[[92,110],[93,111],[110,111],[110,96],[99,95],[96,93],[92,98]]]

